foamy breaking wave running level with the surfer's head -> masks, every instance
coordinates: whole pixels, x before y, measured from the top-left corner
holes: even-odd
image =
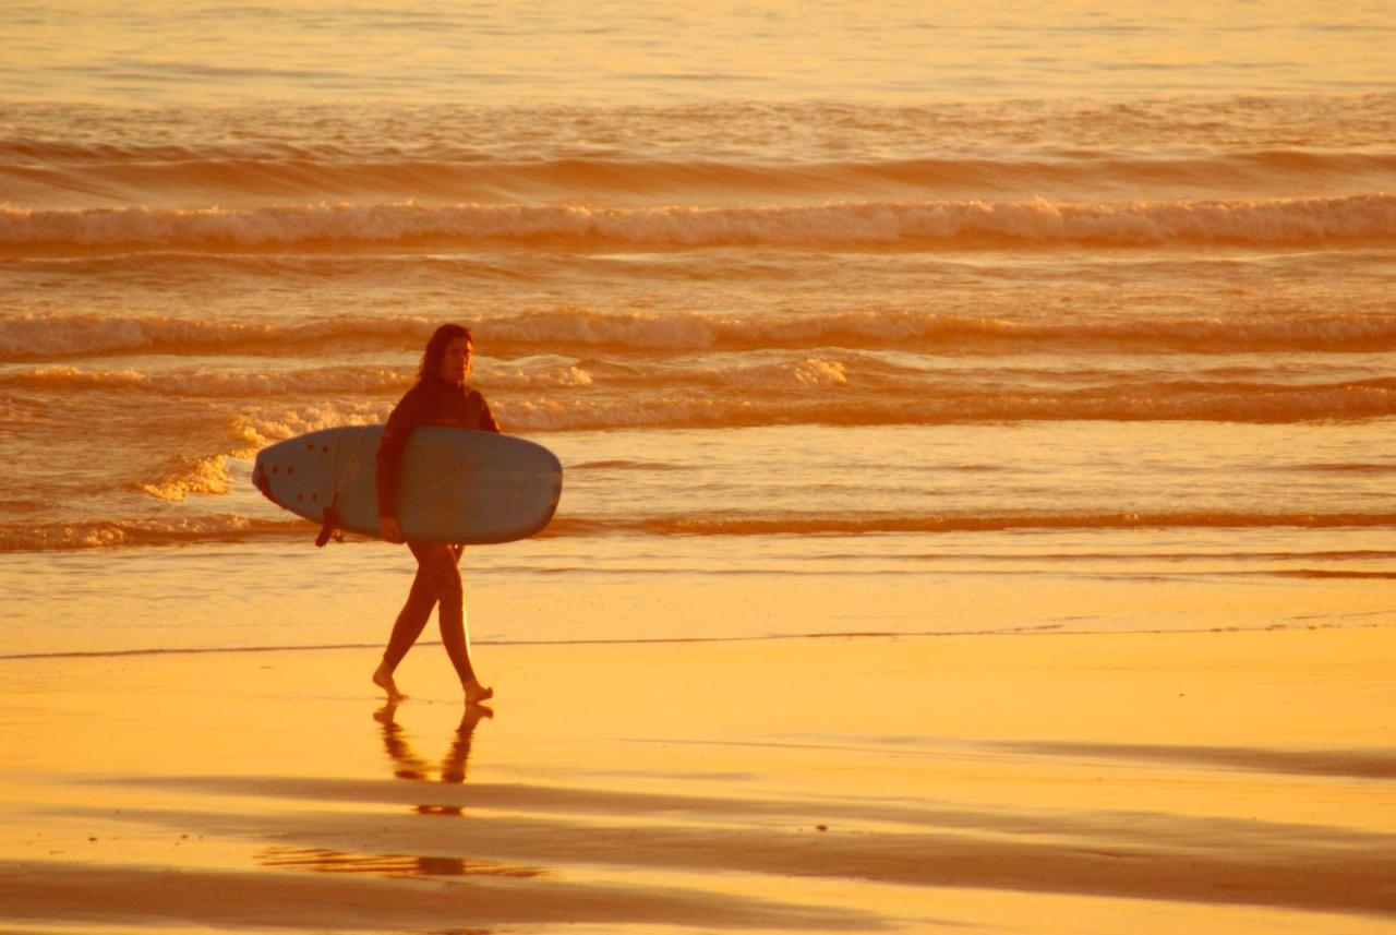
[[[0,361],[85,354],[161,353],[306,356],[338,350],[420,353],[433,320],[343,315],[302,324],[194,321],[161,315],[25,314],[0,320]],[[934,311],[867,310],[778,318],[697,313],[603,313],[557,308],[491,315],[476,322],[480,352],[709,352],[759,349],[882,349],[1041,353],[1048,349],[1228,352],[1396,350],[1393,314],[1276,314],[1268,317],[1000,318]],[[40,377],[32,377],[39,380]],[[52,377],[63,380],[59,371]],[[248,375],[248,380],[257,380]],[[309,377],[307,377],[309,378]],[[370,385],[396,374],[371,368]],[[114,378],[113,378],[114,380]],[[137,377],[131,378],[138,381]],[[581,380],[581,377],[577,377]]]

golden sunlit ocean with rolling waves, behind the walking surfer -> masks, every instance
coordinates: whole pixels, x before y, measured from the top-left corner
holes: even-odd
[[[1396,624],[1392,13],[11,4],[0,656],[377,646],[251,459],[444,321],[477,643]]]

